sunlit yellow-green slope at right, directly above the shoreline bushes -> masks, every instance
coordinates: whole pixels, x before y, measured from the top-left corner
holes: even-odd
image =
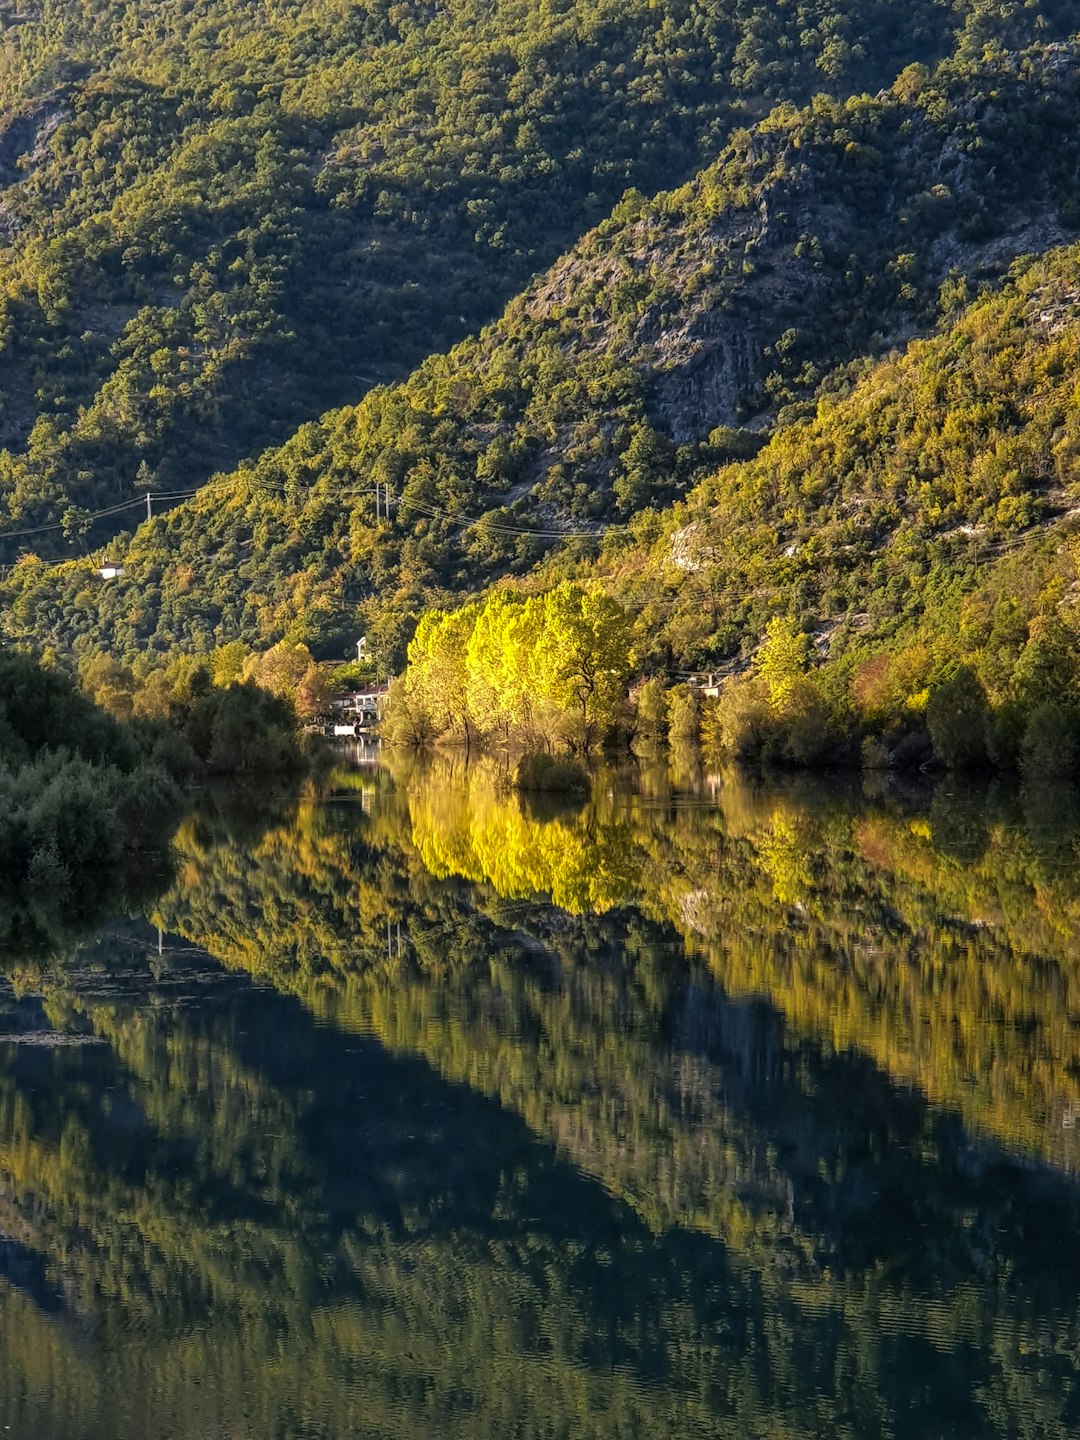
[[[1076,598],[1079,386],[1073,245],[644,517],[600,570],[675,667],[737,657],[791,608],[834,652],[975,639],[995,615],[994,642],[1022,647],[1028,618]]]

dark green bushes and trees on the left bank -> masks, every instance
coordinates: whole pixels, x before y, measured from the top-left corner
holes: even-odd
[[[122,691],[121,719],[118,677],[96,664],[88,678],[91,694],[56,667],[0,651],[4,952],[49,943],[161,883],[199,780],[304,762],[292,708],[251,681],[215,685],[209,667],[176,667],[167,687],[151,674]]]

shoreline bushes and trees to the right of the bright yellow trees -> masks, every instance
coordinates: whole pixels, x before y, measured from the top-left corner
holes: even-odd
[[[717,694],[658,680],[638,690],[638,736],[700,743],[713,759],[792,766],[1020,772],[1080,769],[1080,634],[1051,608],[1014,625],[1011,654],[956,639],[815,657],[812,636],[773,618],[750,664]]]

